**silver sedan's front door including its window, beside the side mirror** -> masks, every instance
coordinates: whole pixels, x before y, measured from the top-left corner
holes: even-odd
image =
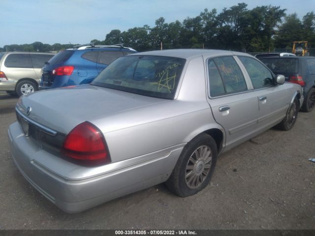
[[[280,122],[288,108],[287,91],[275,85],[271,71],[257,59],[238,56],[251,79],[253,93],[259,104],[258,126],[264,128]]]

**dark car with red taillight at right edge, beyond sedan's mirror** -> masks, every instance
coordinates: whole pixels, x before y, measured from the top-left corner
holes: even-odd
[[[259,57],[276,75],[303,87],[302,111],[310,112],[315,107],[315,57]]]

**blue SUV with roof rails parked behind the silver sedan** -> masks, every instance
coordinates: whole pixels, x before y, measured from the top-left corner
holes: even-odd
[[[91,83],[112,61],[136,53],[123,45],[85,44],[59,52],[41,71],[39,90]]]

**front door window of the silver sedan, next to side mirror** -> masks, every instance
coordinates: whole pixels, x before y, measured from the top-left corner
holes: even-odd
[[[252,80],[254,89],[274,85],[272,73],[258,60],[249,57],[238,57],[245,66]]]

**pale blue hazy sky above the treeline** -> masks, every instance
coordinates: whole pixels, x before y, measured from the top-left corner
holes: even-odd
[[[153,27],[159,17],[182,22],[205,8],[221,12],[239,2],[246,2],[248,9],[281,6],[300,18],[315,9],[315,0],[0,0],[0,47],[35,41],[89,43],[104,40],[111,29]]]

